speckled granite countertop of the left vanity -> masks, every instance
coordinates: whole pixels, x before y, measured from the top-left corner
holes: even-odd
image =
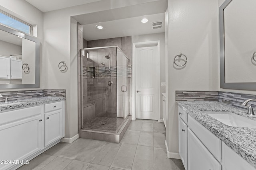
[[[10,109],[17,109],[28,106],[35,106],[40,104],[47,104],[52,102],[58,102],[61,100],[65,100],[63,97],[40,97],[40,98],[28,98],[23,100],[16,100],[8,102],[7,104],[0,104],[0,112],[8,111]]]

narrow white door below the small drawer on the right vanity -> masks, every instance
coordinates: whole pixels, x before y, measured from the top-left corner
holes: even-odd
[[[188,145],[187,145],[187,125],[186,123],[179,117],[179,154],[180,154],[180,158],[182,160],[182,163],[185,167],[185,169],[187,169],[187,149],[188,149]]]

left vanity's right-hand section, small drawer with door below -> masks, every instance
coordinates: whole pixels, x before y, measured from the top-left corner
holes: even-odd
[[[62,102],[44,105],[44,147],[64,137],[62,111]]]

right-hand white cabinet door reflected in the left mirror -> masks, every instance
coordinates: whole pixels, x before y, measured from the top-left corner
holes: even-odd
[[[22,61],[11,59],[11,78],[22,79]]]

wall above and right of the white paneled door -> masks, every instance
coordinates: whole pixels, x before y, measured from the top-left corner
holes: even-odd
[[[160,82],[165,82],[165,33],[154,33],[132,36],[132,44],[147,41],[160,41]],[[165,87],[160,88],[160,114],[162,118],[162,93],[165,93]]]

